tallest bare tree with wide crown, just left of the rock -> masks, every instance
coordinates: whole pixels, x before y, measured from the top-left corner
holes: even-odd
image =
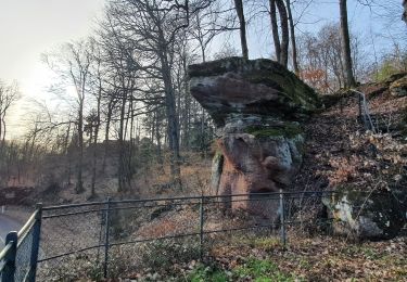
[[[110,27],[116,38],[122,37],[123,46],[133,50],[128,59],[143,73],[140,76],[161,81],[175,183],[180,183],[179,125],[173,77],[176,40],[189,27],[190,18],[209,3],[202,0],[186,1],[185,4],[166,0],[116,0],[107,10]],[[133,60],[135,53],[140,55],[138,60]]]

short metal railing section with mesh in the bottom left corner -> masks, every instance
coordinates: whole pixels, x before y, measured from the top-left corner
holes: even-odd
[[[41,205],[30,216],[23,228],[11,231],[0,253],[0,281],[35,281],[39,252]]]

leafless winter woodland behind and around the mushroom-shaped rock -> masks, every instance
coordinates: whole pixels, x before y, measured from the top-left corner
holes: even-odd
[[[8,139],[7,117],[22,93],[17,82],[0,84],[0,185],[86,198],[204,189],[216,130],[189,94],[188,66],[249,57],[258,18],[269,24],[257,33],[271,35],[271,57],[321,94],[407,70],[406,46],[385,38],[386,51],[376,50],[368,33],[352,31],[346,2],[338,2],[339,22],[307,31],[298,26],[317,0],[107,1],[91,36],[42,54],[54,100],[33,101],[18,140]],[[402,22],[398,1],[359,4],[406,37],[392,26]],[[236,34],[240,44],[218,39]],[[188,183],[196,174],[201,183]]]

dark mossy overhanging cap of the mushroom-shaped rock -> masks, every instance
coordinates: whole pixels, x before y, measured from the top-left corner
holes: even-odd
[[[191,94],[217,127],[236,115],[303,120],[321,107],[319,95],[271,60],[228,57],[189,67]]]

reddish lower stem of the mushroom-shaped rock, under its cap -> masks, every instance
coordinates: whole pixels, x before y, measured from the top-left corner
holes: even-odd
[[[264,119],[254,124],[244,118],[228,121],[217,140],[224,159],[218,169],[221,194],[277,192],[290,185],[300,168],[304,138],[298,125],[271,127]]]

